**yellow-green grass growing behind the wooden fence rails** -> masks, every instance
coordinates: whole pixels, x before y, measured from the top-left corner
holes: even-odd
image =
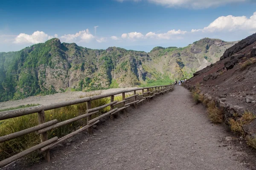
[[[87,96],[94,96],[98,94],[90,94]],[[128,97],[131,95],[126,95]],[[86,96],[80,96],[80,98]],[[114,100],[121,101],[122,96],[115,96]],[[132,100],[132,99],[131,99]],[[110,97],[102,98],[93,100],[91,102],[92,108],[99,107],[101,105],[105,105],[110,102]],[[27,105],[26,105],[27,106]],[[115,107],[118,107],[116,105]],[[16,108],[15,108],[16,109]],[[45,111],[45,119],[46,122],[57,119],[58,122],[62,122],[67,119],[72,119],[76,116],[80,116],[85,113],[87,110],[86,102],[80,103],[77,105],[66,106],[63,108],[57,108],[49,111]],[[110,111],[110,106],[103,108],[100,110],[99,113],[92,115],[92,119],[96,118],[97,116]],[[53,130],[49,130],[47,132],[48,139],[58,136],[59,138],[65,136],[74,130],[81,128],[82,126],[86,125],[87,119],[80,119],[79,121],[72,122],[68,125],[64,125]],[[38,116],[37,113],[29,114],[26,116],[20,116],[12,119],[6,119],[0,122],[0,136],[5,136],[11,133],[18,132],[20,130],[27,129],[29,127],[33,127],[38,125]],[[23,150],[26,150],[36,144],[41,143],[40,136],[36,135],[35,133],[29,133],[24,136],[20,136],[18,138],[2,142],[0,143],[0,161],[13,156],[17,153],[20,153]],[[41,154],[34,152],[27,156],[28,162],[36,162],[42,157]]]

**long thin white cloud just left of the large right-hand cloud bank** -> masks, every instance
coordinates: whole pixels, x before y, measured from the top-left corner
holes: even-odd
[[[179,35],[179,34],[186,34],[187,31],[181,31],[180,29],[179,30],[170,30],[170,31],[167,31],[167,33],[159,33],[159,34],[156,34],[154,32],[148,32],[145,37],[148,37],[148,38],[155,38],[155,39],[164,39],[164,40],[170,40],[172,38],[175,38],[174,36],[175,35]]]

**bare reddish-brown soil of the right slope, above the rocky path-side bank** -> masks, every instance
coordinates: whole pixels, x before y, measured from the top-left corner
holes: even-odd
[[[256,34],[241,40],[227,49],[220,61],[195,73],[195,76],[186,82],[186,86],[199,84],[203,94],[209,94],[213,99],[224,96],[226,104],[239,105],[244,110],[256,114],[256,103],[247,103],[245,99],[246,96],[251,96],[256,101],[256,63],[244,68],[242,66],[245,62],[256,58],[251,53],[255,46]],[[242,55],[242,57],[237,58],[236,55]],[[237,63],[233,65],[233,68],[225,68],[227,66],[225,63],[235,60]],[[204,79],[209,75],[214,77]]]

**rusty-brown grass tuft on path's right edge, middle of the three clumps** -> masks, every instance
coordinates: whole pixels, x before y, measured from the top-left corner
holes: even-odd
[[[210,101],[207,103],[207,111],[208,111],[209,118],[213,123],[222,123],[223,122],[224,110],[218,108],[215,105],[214,101]]]

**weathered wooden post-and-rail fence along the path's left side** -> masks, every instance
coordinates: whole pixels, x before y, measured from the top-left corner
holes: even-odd
[[[137,104],[145,101],[146,99],[149,102],[150,98],[153,98],[158,94],[163,94],[163,93],[172,91],[172,88],[173,88],[173,85],[134,88],[131,90],[116,91],[114,93],[91,96],[91,97],[84,97],[81,99],[74,99],[74,100],[65,101],[65,102],[58,102],[58,103],[54,103],[54,104],[50,104],[50,105],[39,105],[39,106],[30,107],[30,108],[23,108],[23,109],[17,109],[17,110],[12,110],[12,111],[0,112],[0,120],[11,119],[11,118],[19,117],[19,116],[38,113],[38,125],[37,126],[30,127],[28,129],[21,130],[19,132],[15,132],[12,134],[8,134],[6,136],[1,136],[0,143],[9,141],[11,139],[26,135],[28,133],[33,133],[33,132],[35,132],[37,135],[40,135],[40,138],[41,138],[40,144],[30,147],[29,149],[24,150],[14,156],[11,156],[8,159],[0,161],[0,168],[6,166],[7,164],[12,163],[13,161],[15,161],[17,159],[20,159],[23,156],[26,156],[29,153],[32,153],[36,150],[39,150],[39,152],[45,152],[47,161],[50,161],[49,149],[51,147],[54,147],[56,144],[59,144],[59,143],[63,142],[64,140],[69,139],[70,137],[72,137],[72,136],[76,135],[77,133],[80,133],[81,131],[86,130],[86,129],[87,129],[88,133],[92,133],[92,126],[95,125],[96,123],[98,123],[99,119],[102,119],[103,117],[108,116],[108,115],[110,115],[110,118],[113,119],[114,118],[113,114],[115,114],[119,111],[122,111],[125,108],[130,107],[131,105],[134,105],[134,107],[137,108]],[[144,92],[145,89],[147,90],[146,92]],[[130,93],[132,91],[134,92],[134,95],[128,96],[125,98],[125,93]],[[137,91],[141,91],[141,94],[137,94]],[[119,95],[119,94],[122,94],[122,101],[120,101],[120,102],[114,101],[114,96]],[[140,96],[142,97],[142,99],[139,99]],[[93,100],[102,99],[105,97],[110,97],[111,102],[106,105],[99,106],[97,108],[91,108],[91,102]],[[133,101],[129,102],[129,103],[125,103],[125,102],[128,102],[130,99],[133,99]],[[84,114],[77,116],[75,118],[72,118],[72,119],[65,120],[63,122],[58,122],[57,119],[49,121],[49,122],[45,122],[44,111],[61,108],[61,107],[65,107],[65,106],[70,106],[70,105],[76,105],[76,104],[84,103],[84,102],[87,103],[87,110],[84,111],[85,112]],[[117,107],[119,105],[120,105],[120,108]],[[99,113],[100,109],[106,108],[108,106],[110,106],[110,111],[92,119],[91,116],[93,114]],[[114,106],[116,108],[114,108]],[[83,118],[87,118],[87,125],[85,125],[84,127],[81,127],[79,130],[76,130],[66,136],[63,136],[60,139],[58,139],[58,137],[54,137],[52,139],[47,138],[48,130],[52,130],[57,127],[61,127],[63,125],[67,125],[71,122],[75,122],[75,121],[78,121]]]

